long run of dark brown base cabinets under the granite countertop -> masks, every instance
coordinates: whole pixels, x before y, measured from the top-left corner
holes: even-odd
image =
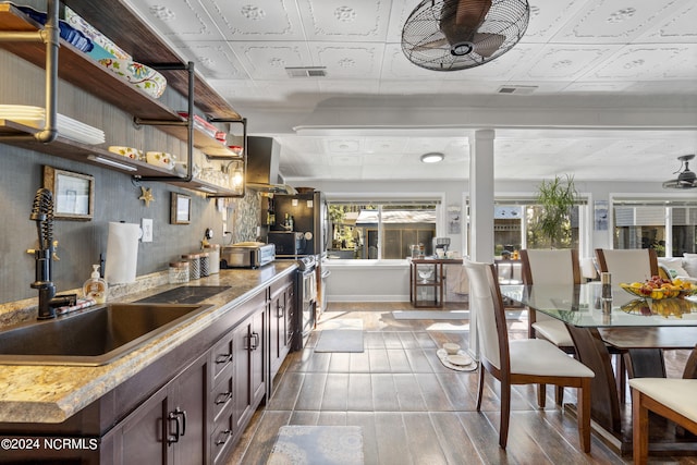
[[[285,344],[277,346],[274,365],[280,366],[288,354],[293,276],[278,277],[246,295],[63,424],[0,423],[2,437],[90,438],[99,441],[96,450],[66,450],[50,457],[45,451],[20,451],[8,458],[51,464],[59,458],[82,464],[224,464],[254,412],[270,395],[271,328]],[[271,308],[277,310],[273,319]]]

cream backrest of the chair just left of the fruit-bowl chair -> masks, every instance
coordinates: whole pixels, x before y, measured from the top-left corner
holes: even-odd
[[[580,284],[576,249],[523,249],[521,262],[524,284]]]

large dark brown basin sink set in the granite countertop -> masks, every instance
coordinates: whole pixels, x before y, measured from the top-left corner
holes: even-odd
[[[0,364],[107,365],[210,305],[107,304],[0,331]]]

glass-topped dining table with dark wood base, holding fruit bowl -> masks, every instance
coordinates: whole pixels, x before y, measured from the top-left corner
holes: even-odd
[[[619,285],[603,293],[599,282],[500,289],[503,297],[566,325],[576,357],[596,374],[590,408],[596,430],[622,453],[631,453],[631,420],[620,383],[624,372],[615,374],[612,355],[621,354],[629,377],[665,377],[663,351],[693,350],[697,344],[697,297],[652,299]],[[661,437],[649,451],[694,453],[697,443],[694,438]]]

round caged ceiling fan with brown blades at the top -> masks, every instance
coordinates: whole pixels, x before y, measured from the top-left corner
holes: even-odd
[[[432,71],[480,66],[509,51],[529,22],[526,0],[424,0],[402,29],[402,51]]]

